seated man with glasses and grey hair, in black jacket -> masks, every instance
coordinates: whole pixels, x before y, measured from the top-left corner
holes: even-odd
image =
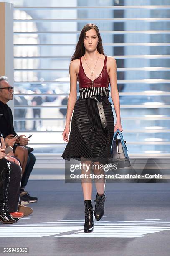
[[[10,86],[7,77],[0,77],[0,131],[5,139],[14,138],[14,136],[17,135],[13,127],[12,111],[6,104],[9,100],[13,100],[13,87]],[[15,142],[16,144],[13,147],[14,156],[22,159],[23,162],[21,160],[20,162],[23,164],[23,166],[25,166],[21,180],[21,192],[24,192],[24,188],[27,185],[30,173],[32,172],[36,161],[35,156],[32,153],[28,153],[27,149],[25,148],[25,146],[28,144],[28,139],[23,137],[24,135],[17,137]],[[23,166],[21,165],[22,168]],[[37,200],[37,197],[31,197],[28,192],[26,195],[21,197],[21,201],[26,202],[36,202]]]

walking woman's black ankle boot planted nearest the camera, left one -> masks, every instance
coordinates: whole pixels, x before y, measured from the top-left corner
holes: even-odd
[[[91,200],[84,200],[85,206],[85,222],[84,222],[84,232],[92,232],[94,223],[93,223],[93,205]]]

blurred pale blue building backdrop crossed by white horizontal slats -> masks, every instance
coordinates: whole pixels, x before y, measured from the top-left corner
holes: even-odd
[[[31,143],[37,153],[61,155],[66,146],[62,132],[70,88],[69,63],[86,23],[99,27],[105,54],[117,61],[129,155],[169,153],[168,2],[14,0],[15,125],[18,132],[34,134]],[[78,88],[79,84],[79,93]],[[37,116],[33,109],[39,111]]]

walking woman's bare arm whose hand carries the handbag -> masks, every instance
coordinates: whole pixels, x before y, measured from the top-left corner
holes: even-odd
[[[114,105],[114,110],[116,113],[116,124],[114,126],[114,131],[119,129],[123,131],[121,125],[121,118],[120,118],[120,101],[119,101],[119,92],[117,89],[117,64],[116,60],[113,57],[109,57],[109,77],[110,77],[110,86],[111,86],[111,98]]]

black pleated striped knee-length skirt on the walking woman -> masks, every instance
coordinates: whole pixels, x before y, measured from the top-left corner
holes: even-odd
[[[107,99],[108,100],[108,99]],[[114,116],[108,100],[102,102],[107,120],[107,131],[101,125],[97,104],[93,99],[79,98],[74,106],[71,120],[69,141],[62,158],[81,161],[84,157],[91,162],[109,164],[111,161],[111,144],[114,135]]]

